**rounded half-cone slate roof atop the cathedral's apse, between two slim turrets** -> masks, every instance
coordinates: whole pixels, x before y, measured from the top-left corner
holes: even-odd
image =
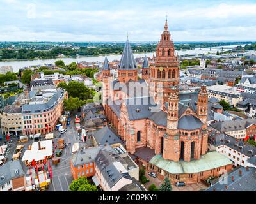
[[[193,115],[184,115],[178,122],[178,129],[193,130],[202,127],[202,122]]]

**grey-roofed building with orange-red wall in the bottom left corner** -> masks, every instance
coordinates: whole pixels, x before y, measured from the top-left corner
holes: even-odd
[[[8,161],[0,166],[0,191],[25,191],[26,180],[22,163]]]

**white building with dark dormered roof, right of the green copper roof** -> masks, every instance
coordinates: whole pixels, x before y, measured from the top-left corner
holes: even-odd
[[[256,147],[253,145],[216,131],[209,134],[209,150],[225,155],[234,166],[252,166],[248,159],[256,155]]]

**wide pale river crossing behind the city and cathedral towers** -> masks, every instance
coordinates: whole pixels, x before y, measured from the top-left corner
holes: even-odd
[[[227,46],[220,46],[220,47],[212,47],[212,50],[209,48],[202,48],[201,50],[199,48],[195,48],[195,50],[180,50],[176,51],[179,55],[185,55],[185,54],[207,54],[207,53],[216,53],[216,50],[220,50],[223,47],[223,51],[230,50],[237,45],[227,45]],[[143,54],[134,54],[134,57],[144,57],[147,55],[148,57],[153,56],[153,52],[149,53],[143,53]],[[43,65],[43,64],[54,64],[57,59],[36,59],[36,60],[26,60],[26,61],[5,61],[0,62],[1,66],[12,66],[14,72],[18,72],[20,68],[28,67],[28,66],[36,66],[36,65]],[[104,62],[105,56],[97,56],[97,57],[63,57],[60,58],[65,62],[65,64],[70,64],[71,62]],[[121,55],[108,55],[108,61],[113,61],[115,59],[120,60]]]

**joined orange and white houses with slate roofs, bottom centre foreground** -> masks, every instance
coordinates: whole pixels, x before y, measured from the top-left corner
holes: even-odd
[[[122,146],[106,144],[79,151],[72,156],[70,169],[74,179],[92,177],[103,191],[138,185],[139,168]],[[140,187],[137,190],[142,191]]]

